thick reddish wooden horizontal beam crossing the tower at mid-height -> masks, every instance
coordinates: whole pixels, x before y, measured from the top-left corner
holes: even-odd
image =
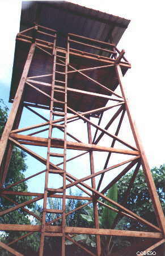
[[[42,138],[42,137],[35,137],[35,136],[29,136],[29,135],[20,135],[16,133],[11,133],[10,137],[21,140],[20,143],[29,145],[38,145],[43,147],[48,147],[48,139]],[[133,150],[125,150],[125,149],[117,149],[117,148],[110,148],[110,147],[102,147],[100,145],[95,144],[86,144],[86,143],[78,143],[78,142],[72,142],[72,141],[66,141],[66,147],[67,149],[73,149],[73,150],[80,150],[80,151],[101,151],[101,152],[112,152],[112,153],[119,153],[124,155],[132,155],[137,156],[139,155],[138,151]],[[64,148],[64,140],[58,139],[58,138],[52,138],[51,143],[52,148]]]

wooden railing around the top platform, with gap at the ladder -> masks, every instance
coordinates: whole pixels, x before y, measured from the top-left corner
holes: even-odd
[[[38,47],[41,46],[53,49],[56,45],[57,31],[35,24],[35,26],[29,29],[19,32],[16,39],[27,43],[36,41]],[[69,33],[67,35],[67,50],[70,54],[86,55],[94,59],[124,63],[130,66],[130,63],[124,56],[125,51],[119,51],[114,43],[103,42],[86,36]]]

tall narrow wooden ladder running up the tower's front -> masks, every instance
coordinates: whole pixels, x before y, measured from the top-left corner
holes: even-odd
[[[51,89],[51,100],[50,100],[50,117],[49,117],[49,135],[48,135],[48,151],[46,159],[46,172],[45,172],[45,189],[44,189],[44,203],[43,203],[43,218],[41,226],[41,241],[40,241],[40,253],[39,256],[44,256],[44,240],[45,236],[62,237],[62,249],[61,256],[65,256],[65,205],[66,205],[66,124],[67,124],[67,64],[68,64],[68,52],[54,46],[53,50],[53,74],[52,74],[52,89]],[[60,71],[59,70],[60,67]],[[61,72],[62,70],[62,72]],[[61,76],[61,79],[58,77]],[[58,86],[62,89],[58,89]],[[64,101],[58,100],[56,98],[56,93],[63,95]],[[62,104],[64,112],[54,111],[54,103]],[[53,124],[54,116],[64,116],[63,124]],[[53,128],[59,128],[64,132],[64,153],[52,152],[52,132]],[[60,157],[64,161],[63,169],[52,168],[50,165],[50,157]],[[62,188],[53,189],[48,188],[49,174],[61,175],[63,178]],[[54,181],[56,181],[56,176],[54,176]],[[47,199],[49,193],[62,193],[62,210],[60,209],[47,209]],[[49,233],[46,232],[46,213],[58,213],[62,214],[62,226],[61,233]]]

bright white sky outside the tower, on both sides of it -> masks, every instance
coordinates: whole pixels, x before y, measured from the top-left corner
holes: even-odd
[[[164,1],[70,1],[132,21],[118,48],[132,69],[125,86],[151,167],[164,163]],[[9,95],[21,1],[1,0],[0,83]],[[2,89],[3,86],[1,85]],[[1,91],[3,97],[3,91]],[[7,97],[8,97],[7,95]]]

